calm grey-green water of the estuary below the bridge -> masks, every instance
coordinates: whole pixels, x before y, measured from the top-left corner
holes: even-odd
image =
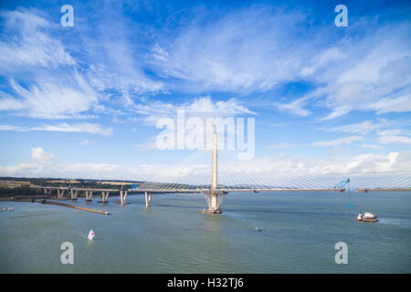
[[[110,198],[111,202],[114,198]],[[411,193],[230,193],[201,214],[201,194],[142,195],[104,216],[40,203],[0,202],[1,273],[410,273]],[[359,211],[377,224],[356,222]],[[262,232],[256,233],[255,227]],[[89,242],[90,228],[96,233]],[[74,245],[74,265],[60,245]],[[334,245],[348,245],[336,265]]]

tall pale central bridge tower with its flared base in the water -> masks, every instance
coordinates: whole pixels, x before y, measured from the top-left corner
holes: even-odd
[[[226,198],[226,191],[217,189],[217,134],[216,126],[213,123],[212,151],[211,151],[211,185],[210,191],[203,192],[208,204],[208,210],[205,213],[220,214],[221,205]]]

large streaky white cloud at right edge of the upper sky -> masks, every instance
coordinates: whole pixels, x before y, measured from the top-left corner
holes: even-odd
[[[335,58],[332,65],[321,69],[315,64],[303,68],[302,75],[321,84],[303,99],[315,100],[317,106],[331,110],[322,120],[335,119],[352,110],[378,114],[410,111],[409,27],[409,22],[373,30],[364,26],[361,38],[342,39],[338,47],[347,57]],[[319,55],[328,50],[323,49]]]

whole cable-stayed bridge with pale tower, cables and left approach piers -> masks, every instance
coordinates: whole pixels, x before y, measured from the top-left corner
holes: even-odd
[[[214,126],[213,126],[214,127]],[[285,167],[272,169],[264,165],[249,169],[239,168],[236,165],[223,166],[219,171],[217,168],[217,135],[213,130],[212,141],[212,163],[209,166],[197,167],[186,175],[175,175],[169,182],[146,182],[139,185],[134,184],[131,189],[90,189],[76,187],[47,187],[33,186],[44,189],[45,193],[51,193],[57,189],[58,199],[64,198],[65,190],[70,191],[71,200],[77,199],[79,191],[86,193],[86,201],[91,201],[93,192],[101,192],[102,201],[109,203],[109,193],[120,193],[118,203],[126,204],[128,193],[144,193],[146,207],[150,207],[153,193],[203,193],[208,209],[205,213],[221,213],[221,206],[227,193],[236,192],[344,192],[350,179],[341,183],[325,183],[314,176]],[[179,174],[179,169],[175,172]],[[373,174],[368,173],[369,178]],[[348,187],[350,185],[348,184]],[[411,172],[391,173],[385,179],[374,182],[370,181],[367,187],[358,188],[357,191],[411,191]]]

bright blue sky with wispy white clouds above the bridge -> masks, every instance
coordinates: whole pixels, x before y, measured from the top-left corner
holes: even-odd
[[[178,110],[255,120],[252,157],[223,147],[222,172],[405,175],[410,15],[408,1],[1,1],[0,176],[209,173],[207,149],[158,147]]]

